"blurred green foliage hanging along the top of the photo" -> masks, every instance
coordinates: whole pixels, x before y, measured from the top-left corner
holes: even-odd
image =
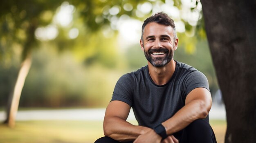
[[[0,9],[0,26],[1,40],[0,40],[0,60],[6,59],[4,55],[13,53],[12,47],[14,44],[20,45],[22,51],[22,59],[25,59],[31,49],[36,48],[38,40],[34,35],[35,30],[40,26],[47,26],[52,22],[54,13],[60,9],[62,0],[54,1],[42,1],[42,0],[29,0],[27,2],[21,2],[18,0],[8,0],[1,4]],[[137,15],[137,5],[148,2],[147,0],[66,0],[75,7],[76,21],[74,23],[83,23],[83,27],[79,29],[85,29],[87,37],[95,31],[101,29],[101,27],[109,25],[112,19],[118,19],[121,15],[129,15],[132,18],[138,18],[144,20],[149,14],[143,14],[144,16]],[[166,2],[162,0],[162,4]],[[159,1],[151,1],[151,4],[159,4]],[[124,7],[129,4],[132,9],[127,10]],[[195,1],[195,7],[198,5],[198,1]],[[174,1],[174,6],[182,9],[182,2],[179,0]],[[196,11],[195,7],[191,8],[191,11]],[[58,9],[57,9],[58,8]],[[112,12],[111,12],[112,11]],[[152,10],[151,10],[152,11]],[[181,20],[185,24],[186,31],[193,31],[193,26],[186,20]],[[202,18],[199,19],[200,23]],[[79,22],[77,22],[79,21]],[[199,24],[200,25],[200,24]],[[69,27],[69,28],[70,28]],[[67,28],[67,29],[69,29]],[[59,29],[60,30],[60,29]],[[115,29],[114,29],[115,30]],[[67,30],[60,30],[60,34],[55,40],[58,48],[63,49],[65,47],[72,46],[75,43],[73,40],[68,39],[66,36]]]

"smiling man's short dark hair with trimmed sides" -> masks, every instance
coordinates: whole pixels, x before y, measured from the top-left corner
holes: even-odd
[[[142,41],[143,41],[144,28],[150,22],[156,22],[158,24],[162,24],[162,25],[165,25],[165,26],[171,26],[173,28],[174,39],[177,38],[176,37],[175,24],[174,24],[173,19],[171,19],[166,13],[159,12],[159,13],[155,13],[154,15],[150,16],[149,18],[147,18],[144,21],[144,23],[142,25],[142,29],[141,29],[141,40]]]

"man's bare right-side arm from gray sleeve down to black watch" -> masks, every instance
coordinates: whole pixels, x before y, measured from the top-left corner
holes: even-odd
[[[207,117],[211,109],[211,93],[206,88],[195,88],[186,97],[185,106],[162,125],[167,134],[173,134],[184,129],[197,119]]]

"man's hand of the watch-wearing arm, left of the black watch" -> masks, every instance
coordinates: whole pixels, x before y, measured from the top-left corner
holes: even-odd
[[[145,134],[139,135],[133,143],[160,143],[161,139],[161,136],[159,136],[154,130],[150,129]]]

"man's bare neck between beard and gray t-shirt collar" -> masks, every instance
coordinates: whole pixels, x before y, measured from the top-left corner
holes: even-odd
[[[176,62],[172,59],[168,64],[163,67],[155,67],[148,62],[148,71],[151,79],[157,85],[166,84],[175,71]]]

